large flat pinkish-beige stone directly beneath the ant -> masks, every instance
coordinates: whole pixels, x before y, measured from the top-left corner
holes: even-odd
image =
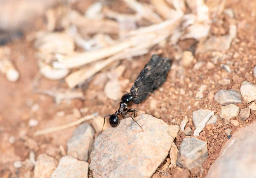
[[[125,118],[96,138],[90,155],[93,178],[150,178],[166,159],[174,140],[171,128],[175,127],[151,115],[140,115],[135,120],[144,132],[131,118]]]

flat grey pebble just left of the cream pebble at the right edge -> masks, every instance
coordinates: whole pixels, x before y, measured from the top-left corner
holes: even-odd
[[[235,90],[220,89],[214,96],[214,100],[221,105],[241,103],[241,95]]]

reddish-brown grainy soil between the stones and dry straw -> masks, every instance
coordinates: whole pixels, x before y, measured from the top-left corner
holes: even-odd
[[[113,9],[119,9],[119,11],[131,11],[127,10],[123,3],[113,3],[112,7]],[[218,157],[221,147],[227,141],[227,136],[224,134],[226,128],[231,128],[231,134],[233,134],[239,127],[244,127],[255,120],[256,112],[252,111],[250,118],[246,121],[240,121],[239,118],[236,118],[240,123],[239,127],[232,126],[219,117],[221,105],[213,99],[215,92],[219,89],[239,91],[241,83],[245,80],[256,83],[256,78],[253,76],[253,68],[256,65],[256,1],[227,0],[226,8],[234,9],[238,27],[236,39],[233,40],[231,48],[225,52],[227,58],[217,60],[213,69],[201,67],[199,70],[193,69],[194,64],[197,61],[205,61],[206,63],[213,61],[214,55],[212,52],[195,55],[193,63],[184,68],[180,66],[179,60],[174,60],[173,68],[163,86],[142,103],[131,105],[131,107],[154,115],[169,124],[180,125],[183,118],[188,116],[189,123],[187,126],[190,126],[193,130],[195,129],[192,123],[193,111],[209,109],[215,112],[218,122],[207,125],[199,136],[200,139],[208,143],[208,158],[204,161],[202,170],[198,169],[190,172],[190,178],[205,177],[207,170]],[[84,11],[83,8],[80,7],[80,11]],[[224,17],[220,19],[224,19]],[[225,33],[227,24],[220,24],[217,21],[212,26],[212,34]],[[179,45],[181,49],[193,51],[196,43],[194,40],[185,40],[180,41]],[[116,111],[119,101],[110,100],[105,96],[103,89],[107,78],[102,77],[102,72],[112,71],[118,65],[125,66],[125,72],[119,78],[119,81],[121,84],[123,83],[122,90],[129,91],[137,75],[153,53],[163,57],[173,57],[175,51],[171,45],[167,45],[165,48],[155,47],[146,56],[114,63],[110,68],[103,70],[90,80],[86,89],[84,89],[84,101],[76,99],[69,102],[63,101],[57,105],[51,97],[38,95],[32,91],[32,81],[38,73],[32,42],[20,39],[9,43],[8,46],[11,49],[11,60],[20,72],[20,80],[11,83],[6,80],[5,76],[0,75],[0,177],[7,175],[10,175],[7,177],[25,177],[27,172],[30,172],[32,177],[32,167],[19,170],[13,167],[15,161],[29,159],[30,150],[35,152],[36,157],[41,153],[47,153],[57,159],[61,158],[64,155],[61,146],[64,147],[64,150],[67,150],[66,142],[75,128],[42,136],[34,136],[33,133],[40,129],[77,120],[78,118],[73,114],[74,108],[86,108],[82,115],[98,112],[99,115],[104,116]],[[239,54],[238,57],[234,57],[235,53]],[[221,64],[229,64],[233,72],[228,73],[221,69]],[[181,73],[182,70],[183,73]],[[231,84],[229,86],[219,85],[218,80],[222,78],[229,78]],[[125,84],[126,81],[128,81],[128,84]],[[195,94],[202,84],[207,85],[207,89],[204,91],[204,98],[198,100],[195,98]],[[65,84],[63,84],[63,81],[42,79],[38,85],[38,87],[46,89],[52,89],[53,86],[65,86]],[[180,89],[185,90],[184,95],[180,94]],[[158,101],[156,107],[151,108],[151,100]],[[238,106],[242,109],[247,104],[239,104]],[[61,111],[65,113],[64,116],[57,114]],[[38,126],[29,127],[30,119],[36,119]],[[15,137],[15,143],[13,144],[9,141],[11,136]],[[178,148],[185,137],[182,132],[179,133],[175,141]],[[173,170],[173,168],[168,169],[165,173],[157,176],[172,177],[172,174],[180,171]]]

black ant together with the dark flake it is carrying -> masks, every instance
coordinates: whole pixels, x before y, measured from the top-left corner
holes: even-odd
[[[167,78],[167,74],[171,68],[171,60],[168,58],[161,58],[158,55],[152,55],[150,61],[144,66],[137,79],[134,82],[134,85],[131,87],[130,93],[126,93],[122,96],[121,102],[119,103],[119,109],[112,115],[105,115],[105,118],[109,117],[109,123],[112,127],[116,127],[120,123],[120,118],[123,118],[124,115],[130,115],[131,112],[139,112],[134,108],[128,109],[127,106],[129,103],[140,103],[145,100],[148,95],[150,95],[155,89],[159,88]],[[130,115],[131,116],[131,115]],[[132,120],[134,118],[131,116]],[[137,123],[134,120],[135,123]],[[138,123],[137,123],[138,124]],[[138,124],[138,126],[140,126]],[[103,130],[102,127],[102,130]],[[140,126],[143,130],[143,128]]]

